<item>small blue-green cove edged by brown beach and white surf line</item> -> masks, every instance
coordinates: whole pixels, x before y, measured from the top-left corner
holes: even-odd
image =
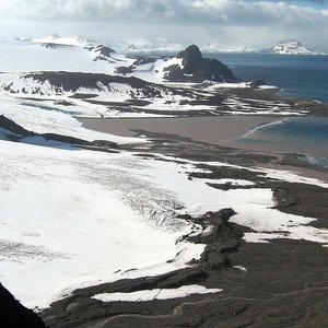
[[[237,142],[259,150],[304,154],[313,163],[328,168],[328,118],[284,118],[258,126]]]

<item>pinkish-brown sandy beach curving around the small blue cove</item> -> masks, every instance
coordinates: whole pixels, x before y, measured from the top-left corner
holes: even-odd
[[[122,137],[145,137],[152,140],[168,139],[186,142],[219,145],[236,149],[245,153],[258,153],[259,155],[272,155],[281,162],[289,157],[285,163],[266,163],[267,168],[292,169],[306,177],[314,177],[328,181],[327,169],[297,160],[301,152],[295,149],[279,151],[268,145],[260,147],[258,143],[249,144],[238,142],[237,139],[259,126],[279,121],[281,116],[219,116],[219,117],[175,117],[175,118],[85,118],[79,119],[83,127],[120,134]],[[292,116],[293,117],[293,116]],[[204,127],[204,129],[201,129]],[[294,154],[293,156],[289,156]],[[323,154],[325,155],[325,154]],[[291,160],[293,157],[293,160]],[[262,166],[263,166],[262,165]]]

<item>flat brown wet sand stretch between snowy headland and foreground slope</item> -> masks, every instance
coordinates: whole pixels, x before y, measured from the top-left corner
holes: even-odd
[[[239,140],[256,127],[278,121],[281,116],[212,116],[212,117],[179,117],[179,118],[118,118],[79,119],[87,129],[102,132],[134,137],[142,131],[162,134],[175,134],[194,141],[220,144],[262,153],[298,153],[327,156],[324,148],[314,149],[308,143],[262,142],[261,140]],[[284,117],[285,118],[285,117]]]

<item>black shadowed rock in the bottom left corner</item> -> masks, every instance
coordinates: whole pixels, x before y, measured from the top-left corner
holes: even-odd
[[[0,283],[0,327],[38,328],[46,326],[44,321],[34,312],[24,307]]]

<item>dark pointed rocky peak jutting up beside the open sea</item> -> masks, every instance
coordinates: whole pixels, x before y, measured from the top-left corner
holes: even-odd
[[[178,65],[166,68],[165,79],[172,82],[235,82],[236,78],[227,66],[216,59],[203,58],[196,45],[189,46],[177,55],[183,59]]]

